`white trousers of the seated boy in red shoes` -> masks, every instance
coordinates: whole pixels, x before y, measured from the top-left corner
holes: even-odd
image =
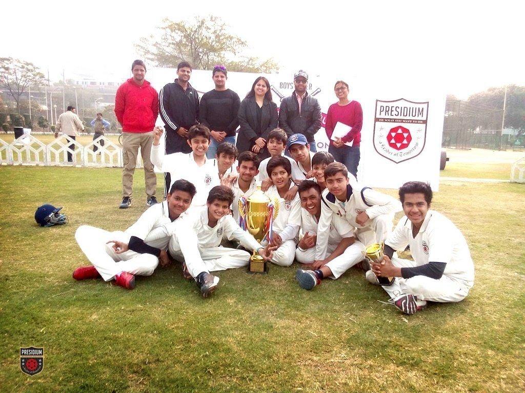
[[[104,281],[112,280],[122,271],[139,276],[151,276],[159,265],[159,258],[151,254],[139,254],[128,250],[116,254],[112,244],[117,240],[129,243],[131,235],[116,231],[108,232],[94,226],[82,225],[75,239],[90,263],[95,266]]]

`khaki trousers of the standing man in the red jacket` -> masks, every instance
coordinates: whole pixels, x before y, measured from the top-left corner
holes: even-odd
[[[153,143],[153,132],[149,133],[122,133],[122,156],[124,169],[122,170],[122,196],[131,196],[133,193],[133,173],[137,165],[139,147],[141,150],[142,163],[144,165],[144,178],[146,183],[146,195],[154,196],[157,178],[153,171],[150,160],[151,145]]]

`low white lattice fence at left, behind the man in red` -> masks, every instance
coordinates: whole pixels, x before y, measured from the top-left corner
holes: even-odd
[[[101,141],[104,146],[101,146]],[[75,149],[70,146],[74,145]],[[93,151],[93,147],[98,150]],[[67,154],[72,154],[72,163]],[[46,145],[33,135],[23,135],[12,143],[0,139],[1,165],[40,165],[76,167],[117,167],[122,168],[122,148],[103,135],[83,146],[67,135],[62,135]],[[142,158],[137,157],[137,168],[142,167]]]

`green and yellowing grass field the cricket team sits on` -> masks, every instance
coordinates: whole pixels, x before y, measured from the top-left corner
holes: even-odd
[[[433,208],[466,236],[475,285],[463,302],[406,316],[357,269],[313,291],[297,285],[296,264],[268,276],[217,272],[209,299],[178,265],[137,278],[132,291],[74,281],[87,264],[76,228],[122,230],[146,209],[142,170],[132,207],[117,209],[120,176],[0,167],[0,391],[525,390],[524,185],[442,184]],[[46,202],[63,205],[69,224],[37,226]],[[34,377],[19,368],[28,346],[44,347]]]

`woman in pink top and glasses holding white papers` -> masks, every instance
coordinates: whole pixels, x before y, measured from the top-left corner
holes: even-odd
[[[343,163],[350,173],[357,176],[359,159],[361,157],[359,145],[361,143],[363,111],[359,102],[348,99],[348,83],[337,81],[335,82],[334,90],[339,102],[330,105],[324,127],[328,140],[330,140],[328,152],[336,161]],[[337,123],[350,126],[352,129],[342,138],[332,140],[332,133]],[[352,143],[352,146],[345,145],[345,143]]]

